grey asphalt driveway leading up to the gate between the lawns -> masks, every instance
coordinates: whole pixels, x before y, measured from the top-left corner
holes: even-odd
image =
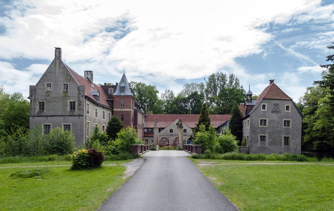
[[[145,158],[99,210],[237,210],[188,158]]]

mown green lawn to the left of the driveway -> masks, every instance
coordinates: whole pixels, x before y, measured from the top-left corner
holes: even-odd
[[[70,170],[68,161],[0,165],[0,210],[96,210],[126,179],[128,161],[106,161],[92,170]],[[5,167],[24,168],[5,168]],[[29,173],[40,176],[26,177]],[[15,174],[11,176],[12,174]],[[23,176],[22,176],[23,175]]]

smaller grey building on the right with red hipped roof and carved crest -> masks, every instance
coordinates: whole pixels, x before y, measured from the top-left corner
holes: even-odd
[[[270,80],[258,99],[249,89],[245,106],[239,106],[246,147],[241,152],[301,154],[302,112],[295,102]]]

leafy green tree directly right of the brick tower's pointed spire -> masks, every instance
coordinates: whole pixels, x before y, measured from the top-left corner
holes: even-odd
[[[136,81],[131,81],[131,85],[135,98],[142,105],[144,111],[153,114],[162,113],[162,103],[158,97],[159,91],[156,86]]]

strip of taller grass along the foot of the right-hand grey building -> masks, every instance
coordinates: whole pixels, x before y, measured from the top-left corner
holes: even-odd
[[[318,162],[316,157],[307,157],[305,155],[297,155],[292,153],[284,154],[244,154],[229,152],[225,154],[193,154],[194,159],[218,159],[218,160],[246,160],[246,161],[299,161],[299,162]],[[334,162],[333,158],[323,158],[323,162]]]

